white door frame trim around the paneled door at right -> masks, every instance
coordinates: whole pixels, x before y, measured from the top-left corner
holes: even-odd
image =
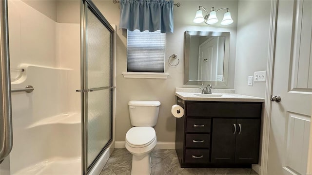
[[[268,52],[268,64],[267,64],[267,84],[266,84],[266,91],[265,91],[265,104],[264,104],[264,109],[263,109],[261,166],[253,165],[253,169],[257,170],[257,173],[260,175],[267,175],[267,170],[268,170],[269,135],[270,135],[271,111],[272,111],[271,95],[272,95],[272,90],[273,90],[277,12],[278,12],[278,0],[272,0],[271,1],[271,15],[270,15],[269,52]],[[312,164],[312,122],[310,124],[311,124],[311,127],[310,127],[310,141],[309,141],[309,157],[308,157],[308,167],[307,167],[308,175],[312,174],[312,166],[311,166]]]

